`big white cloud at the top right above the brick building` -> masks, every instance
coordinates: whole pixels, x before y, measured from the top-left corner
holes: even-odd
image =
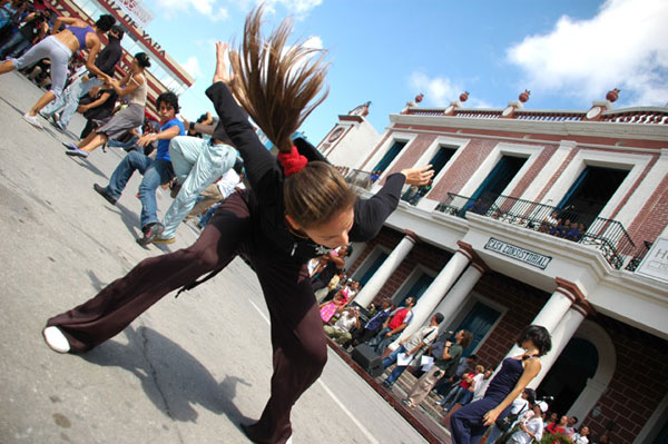
[[[546,34],[509,48],[534,93],[603,99],[620,88],[625,105],[668,101],[668,1],[607,0],[588,20],[561,17]]]

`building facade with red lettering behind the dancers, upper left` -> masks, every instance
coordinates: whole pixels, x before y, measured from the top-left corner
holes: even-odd
[[[128,10],[129,7],[125,4],[127,2],[114,0],[46,0],[45,3],[59,16],[79,17],[91,24],[104,13],[116,18],[118,24],[125,30],[121,41],[124,53],[116,68],[118,75],[125,76],[130,69],[132,56],[137,52],[146,52],[151,59],[151,67],[147,70],[148,100],[146,108],[147,114],[153,118],[157,119],[155,101],[160,93],[173,91],[180,96],[195,82],[193,77],[140,27],[139,20],[144,19],[146,22],[147,16],[147,11],[140,9],[140,6],[131,4],[140,11],[138,14]]]

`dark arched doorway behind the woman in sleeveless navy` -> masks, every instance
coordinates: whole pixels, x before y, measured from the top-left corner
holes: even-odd
[[[550,411],[566,414],[576,403],[599,366],[597,347],[586,338],[573,337],[537,389],[538,397],[553,396]]]

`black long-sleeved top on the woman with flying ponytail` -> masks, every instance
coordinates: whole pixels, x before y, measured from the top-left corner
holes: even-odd
[[[206,95],[214,103],[220,125],[244,159],[246,175],[250,182],[250,217],[254,230],[275,249],[301,262],[322,256],[330,248],[311,239],[293,235],[285,225],[283,201],[284,174],[281,164],[262,145],[246,112],[236,103],[229,89],[223,82],[212,85]],[[310,144],[295,141],[297,150],[310,161],[325,160]],[[357,199],[354,207],[355,220],[348,237],[351,241],[366,241],[375,237],[385,219],[399,205],[405,176],[394,174],[387,177],[385,186],[370,199]]]

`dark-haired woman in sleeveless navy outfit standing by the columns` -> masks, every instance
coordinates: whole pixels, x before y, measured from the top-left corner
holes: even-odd
[[[454,444],[477,444],[490,425],[508,416],[512,402],[540,372],[539,356],[552,348],[550,333],[539,325],[524,328],[517,344],[524,348],[524,354],[503,359],[484,397],[465,405],[450,417]]]

